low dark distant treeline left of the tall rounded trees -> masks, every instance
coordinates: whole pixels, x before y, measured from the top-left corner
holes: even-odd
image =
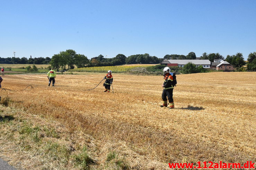
[[[8,57],[8,58],[1,58],[1,64],[50,64],[51,58],[50,57],[38,57],[38,58],[29,58],[26,57],[18,58],[18,57]]]

